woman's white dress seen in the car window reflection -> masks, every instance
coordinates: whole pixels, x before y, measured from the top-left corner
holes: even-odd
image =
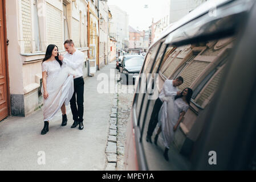
[[[187,111],[189,105],[182,100],[182,98],[177,98],[174,100],[175,96],[164,97],[164,103],[159,111],[159,125],[162,129],[162,138],[164,139],[164,146],[169,148],[170,143],[173,141],[174,131],[173,127],[177,124],[178,118],[182,111]],[[178,125],[177,129],[180,127]]]

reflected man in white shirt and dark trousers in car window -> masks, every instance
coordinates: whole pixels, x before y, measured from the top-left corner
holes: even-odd
[[[162,106],[162,98],[165,96],[176,96],[180,95],[181,92],[178,92],[178,89],[176,88],[177,86],[180,86],[183,83],[183,78],[181,76],[177,77],[175,80],[165,80],[164,86],[162,86],[162,90],[159,94],[159,98],[157,98],[155,105],[153,107],[153,111],[151,114],[151,119],[148,124],[148,131],[147,131],[147,142],[151,142],[151,137],[153,134],[153,131],[156,128],[157,122],[158,122],[158,115],[159,115],[159,110]]]

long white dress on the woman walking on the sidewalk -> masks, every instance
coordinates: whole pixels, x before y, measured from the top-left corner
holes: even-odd
[[[42,63],[42,72],[47,72],[46,89],[48,98],[43,98],[43,117],[44,121],[50,121],[56,112],[63,105],[68,105],[74,93],[74,72],[66,65],[60,64],[58,61],[44,61]],[[70,76],[69,76],[70,75]],[[44,93],[43,85],[41,89]]]

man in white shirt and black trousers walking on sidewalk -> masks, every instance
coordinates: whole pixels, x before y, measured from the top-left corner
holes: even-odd
[[[70,107],[73,114],[74,123],[71,128],[78,126],[79,130],[83,130],[83,114],[84,114],[84,79],[83,79],[83,62],[84,53],[77,50],[74,42],[68,39],[64,42],[67,53],[59,56],[59,60],[63,61],[68,67],[75,70],[74,77],[74,94],[70,100]],[[78,107],[76,107],[76,103]],[[67,125],[63,123],[62,126]]]

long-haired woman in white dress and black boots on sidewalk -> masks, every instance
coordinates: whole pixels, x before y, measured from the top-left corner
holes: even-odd
[[[41,134],[48,132],[49,121],[59,109],[62,110],[62,126],[67,124],[66,106],[74,93],[74,72],[58,59],[58,47],[50,44],[42,62],[41,92],[43,94],[44,127]]]

